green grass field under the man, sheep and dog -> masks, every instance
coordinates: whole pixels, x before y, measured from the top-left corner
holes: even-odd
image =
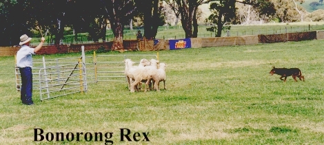
[[[80,142],[33,142],[38,128],[43,135],[112,132],[114,144],[323,144],[323,45],[314,40],[161,51],[167,90],[130,93],[126,82],[98,82],[88,84],[87,93],[43,102],[34,90],[34,106],[21,104],[14,57],[0,57],[0,142],[105,144],[105,138],[86,142],[83,136]],[[270,76],[273,65],[299,67],[305,82]],[[121,142],[120,129],[141,133],[141,140],[149,133],[150,142],[132,136],[133,142]]]

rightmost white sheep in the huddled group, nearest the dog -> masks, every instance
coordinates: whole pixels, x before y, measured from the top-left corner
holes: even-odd
[[[150,80],[154,81],[154,88],[156,91],[160,91],[160,82],[163,81],[163,87],[165,88],[165,80],[166,80],[166,74],[165,74],[165,63],[160,63],[159,69],[152,69],[149,71],[150,75],[148,77],[148,81],[146,82],[146,85],[149,84]]]

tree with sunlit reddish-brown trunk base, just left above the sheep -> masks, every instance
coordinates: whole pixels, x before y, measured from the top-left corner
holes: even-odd
[[[104,17],[107,17],[114,34],[112,50],[123,49],[123,29],[132,19],[133,12],[136,9],[132,0],[101,0],[105,10]]]

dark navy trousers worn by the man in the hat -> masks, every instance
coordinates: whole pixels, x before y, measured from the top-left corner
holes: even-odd
[[[23,104],[34,104],[32,102],[32,68],[23,67],[19,68],[21,74],[21,101]]]

